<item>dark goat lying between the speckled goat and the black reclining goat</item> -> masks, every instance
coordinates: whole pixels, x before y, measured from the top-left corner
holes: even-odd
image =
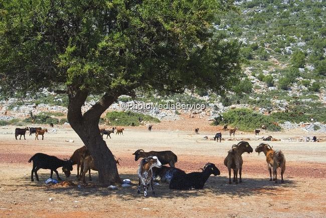
[[[161,182],[168,182],[170,183],[171,179],[175,175],[185,175],[185,171],[175,168],[175,167],[167,167],[162,166],[161,168],[152,168],[153,171],[153,180],[154,181],[161,181]]]

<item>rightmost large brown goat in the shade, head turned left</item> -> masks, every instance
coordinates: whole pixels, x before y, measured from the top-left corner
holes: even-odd
[[[275,176],[274,180],[275,183],[277,183],[277,168],[281,168],[281,182],[283,183],[283,173],[285,171],[285,157],[281,150],[274,151],[272,149],[273,147],[270,147],[270,145],[266,143],[260,143],[260,145],[257,146],[255,149],[258,154],[260,152],[264,152],[266,156],[266,162],[267,162],[267,168],[269,171],[269,181],[272,181],[272,168],[273,168],[273,177]]]

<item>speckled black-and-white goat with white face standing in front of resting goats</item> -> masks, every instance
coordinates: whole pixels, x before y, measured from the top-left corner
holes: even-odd
[[[150,188],[153,194],[155,194],[153,189],[153,167],[161,167],[162,164],[159,162],[156,156],[153,157],[146,157],[140,161],[140,165],[138,168],[138,189],[137,193],[140,193],[140,184],[144,189],[144,197],[147,197],[147,189],[150,184]]]

